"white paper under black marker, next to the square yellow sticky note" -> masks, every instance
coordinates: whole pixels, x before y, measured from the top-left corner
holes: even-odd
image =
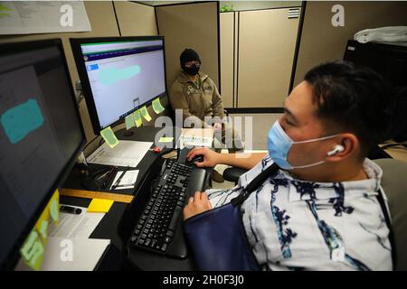
[[[58,238],[89,238],[99,225],[105,213],[88,213],[87,208],[71,206],[82,210],[79,215],[60,212],[58,227],[52,228],[49,237]]]

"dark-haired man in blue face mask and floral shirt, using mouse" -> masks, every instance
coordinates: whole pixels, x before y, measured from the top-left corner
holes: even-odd
[[[270,128],[269,154],[189,154],[204,156],[199,167],[224,163],[250,171],[232,190],[197,191],[185,219],[232,200],[277,163],[279,171],[241,206],[262,269],[391,270],[389,228],[377,200],[383,172],[367,159],[387,130],[391,97],[377,73],[350,62],[309,70]]]

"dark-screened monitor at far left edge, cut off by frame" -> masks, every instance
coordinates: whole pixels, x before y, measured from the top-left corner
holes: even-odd
[[[0,268],[19,249],[85,144],[61,40],[0,45]]]

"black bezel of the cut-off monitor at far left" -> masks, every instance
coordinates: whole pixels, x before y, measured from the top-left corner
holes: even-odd
[[[65,70],[65,73],[67,76],[69,89],[71,90],[71,98],[72,98],[72,101],[73,101],[73,104],[75,107],[74,108],[75,116],[77,117],[79,125],[80,125],[80,134],[82,135],[82,139],[81,139],[80,144],[78,145],[77,149],[75,150],[74,154],[71,155],[69,162],[66,163],[65,166],[63,167],[62,172],[60,172],[60,174],[59,174],[59,177],[52,184],[50,191],[48,191],[45,198],[41,202],[40,206],[37,208],[37,210],[35,210],[32,218],[27,223],[26,228],[24,228],[23,233],[17,239],[17,242],[14,244],[14,247],[9,252],[8,256],[5,257],[3,264],[0,264],[1,270],[13,270],[14,269],[14,266],[17,264],[17,262],[20,258],[19,251],[20,251],[20,248],[23,246],[25,239],[28,237],[28,235],[33,230],[33,227],[34,227],[36,221],[40,218],[46,205],[48,204],[49,200],[52,198],[53,192],[55,190],[57,190],[58,188],[60,188],[62,186],[63,182],[65,182],[66,179],[68,178],[68,175],[71,172],[73,164],[76,162],[78,154],[80,154],[80,152],[82,151],[83,147],[86,144],[86,135],[85,135],[85,131],[83,129],[82,121],[80,118],[80,111],[79,111],[79,107],[77,105],[76,97],[74,94],[72,81],[71,81],[71,74],[68,69],[68,62],[66,60],[65,51],[63,50],[63,45],[62,45],[61,39],[46,39],[46,40],[41,40],[41,41],[11,42],[11,43],[0,44],[0,55],[2,55],[2,54],[13,55],[15,53],[33,51],[33,50],[48,48],[48,47],[52,47],[52,46],[58,47],[58,49],[61,52],[62,63],[63,63],[63,67],[64,67],[64,70]]]

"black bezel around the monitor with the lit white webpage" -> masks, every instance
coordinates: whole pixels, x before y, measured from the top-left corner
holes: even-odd
[[[90,80],[88,78],[88,72],[86,71],[85,67],[85,61],[83,60],[83,54],[82,51],[80,50],[80,45],[81,44],[88,44],[88,43],[97,43],[97,42],[126,42],[126,41],[154,41],[154,40],[161,40],[163,41],[163,54],[164,54],[164,83],[165,83],[165,91],[159,96],[156,96],[155,98],[165,98],[167,95],[167,83],[166,83],[166,42],[164,40],[164,36],[111,36],[111,37],[86,37],[86,38],[70,38],[71,42],[71,50],[73,53],[73,58],[75,59],[76,63],[76,68],[78,70],[78,75],[80,78],[80,84],[81,88],[83,90],[83,94],[85,97],[86,105],[88,107],[89,115],[90,115],[90,122],[92,124],[93,132],[95,135],[100,134],[100,123],[99,123],[99,117],[98,117],[98,112],[96,110],[96,105],[95,101],[93,98],[92,90],[90,88]],[[126,116],[131,114],[132,112],[136,111],[140,107],[148,106],[150,105],[153,100],[155,99],[148,100],[145,103],[140,104],[136,108],[132,108],[128,110]],[[109,126],[117,126],[121,122],[124,121],[124,117],[118,118],[117,121],[109,124]],[[107,126],[106,126],[107,127]]]

